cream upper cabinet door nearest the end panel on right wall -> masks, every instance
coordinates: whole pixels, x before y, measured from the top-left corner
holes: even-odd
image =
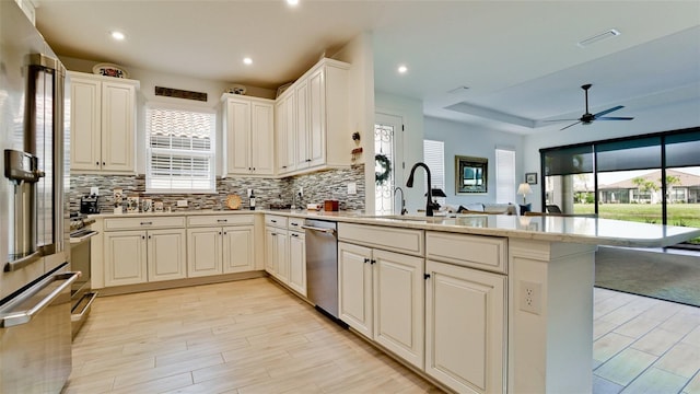
[[[308,78],[308,166],[326,164],[326,83],[324,68]]]

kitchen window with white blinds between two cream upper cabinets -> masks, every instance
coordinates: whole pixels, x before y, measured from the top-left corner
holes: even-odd
[[[147,192],[215,192],[215,123],[213,112],[147,107]]]

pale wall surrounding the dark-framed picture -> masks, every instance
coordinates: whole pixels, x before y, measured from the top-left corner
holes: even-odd
[[[495,148],[515,151],[516,183],[524,182],[523,137],[515,134],[488,130],[452,120],[425,117],[425,139],[445,142],[445,194],[447,204],[459,206],[471,202],[495,202]],[[487,194],[455,194],[455,155],[489,160]],[[515,185],[517,188],[517,185]],[[529,198],[528,198],[529,199]],[[517,196],[511,202],[517,204]]]

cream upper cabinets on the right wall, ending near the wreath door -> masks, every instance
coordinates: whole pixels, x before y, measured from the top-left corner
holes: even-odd
[[[348,70],[350,65],[322,59],[303,74],[280,100],[294,97],[294,109],[285,107],[287,138],[293,137],[294,149],[287,144],[284,152],[278,146],[278,161],[293,163],[294,169],[278,167],[278,174],[302,174],[326,167],[350,166],[352,125],[348,100]],[[279,106],[278,106],[279,108]],[[293,118],[292,115],[293,114]],[[280,117],[278,117],[280,119]],[[293,132],[290,125],[294,125]],[[278,138],[281,128],[278,127]],[[293,152],[293,160],[290,152]]]

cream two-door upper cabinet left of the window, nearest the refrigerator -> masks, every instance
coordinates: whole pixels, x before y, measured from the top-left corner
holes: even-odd
[[[133,174],[138,81],[70,76],[71,171]]]

